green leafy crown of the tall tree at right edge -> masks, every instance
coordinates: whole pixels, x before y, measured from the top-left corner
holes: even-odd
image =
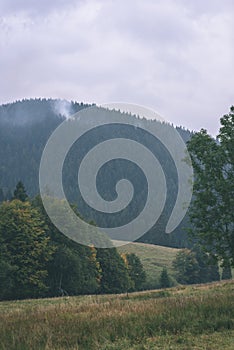
[[[234,107],[221,118],[218,140],[206,130],[188,142],[195,171],[191,233],[219,260],[234,264]]]

